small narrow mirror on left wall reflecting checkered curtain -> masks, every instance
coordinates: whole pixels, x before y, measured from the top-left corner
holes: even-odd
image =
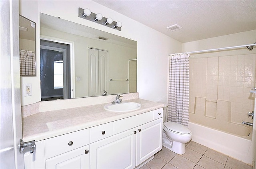
[[[36,23],[19,16],[20,76],[36,76]]]

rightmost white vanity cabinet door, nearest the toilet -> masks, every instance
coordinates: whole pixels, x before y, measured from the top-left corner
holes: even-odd
[[[136,166],[162,149],[163,118],[136,128]]]

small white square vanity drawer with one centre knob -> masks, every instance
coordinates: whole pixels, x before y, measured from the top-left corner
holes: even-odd
[[[90,143],[113,135],[113,122],[90,128]]]

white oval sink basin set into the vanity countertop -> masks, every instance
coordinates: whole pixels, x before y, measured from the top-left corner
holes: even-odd
[[[106,104],[104,106],[105,110],[111,112],[129,112],[138,110],[141,108],[141,104],[135,102],[122,102],[119,104]]]

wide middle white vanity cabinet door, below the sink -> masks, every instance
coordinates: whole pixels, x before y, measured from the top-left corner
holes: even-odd
[[[135,128],[90,144],[92,169],[135,168]]]

